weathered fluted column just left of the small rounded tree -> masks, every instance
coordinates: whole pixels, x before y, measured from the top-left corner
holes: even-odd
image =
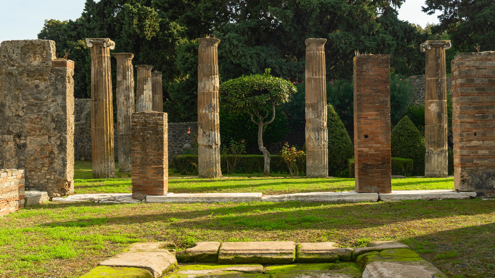
[[[198,172],[200,178],[220,178],[220,122],[218,118],[218,43],[198,39]]]

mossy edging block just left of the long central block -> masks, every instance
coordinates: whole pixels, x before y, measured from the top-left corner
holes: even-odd
[[[218,261],[220,242],[196,242],[194,247],[177,253],[178,262],[216,263]]]

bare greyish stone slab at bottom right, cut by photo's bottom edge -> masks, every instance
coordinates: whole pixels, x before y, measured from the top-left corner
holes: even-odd
[[[421,261],[372,262],[366,265],[363,278],[447,278],[431,263]]]

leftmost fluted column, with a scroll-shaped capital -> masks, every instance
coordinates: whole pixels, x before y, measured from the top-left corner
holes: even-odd
[[[108,38],[86,39],[91,48],[91,152],[93,178],[115,178],[113,153],[113,107]]]

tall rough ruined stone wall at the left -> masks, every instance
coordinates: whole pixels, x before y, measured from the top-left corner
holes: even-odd
[[[74,190],[74,62],[49,40],[0,46],[0,168],[25,170],[27,189]]]

